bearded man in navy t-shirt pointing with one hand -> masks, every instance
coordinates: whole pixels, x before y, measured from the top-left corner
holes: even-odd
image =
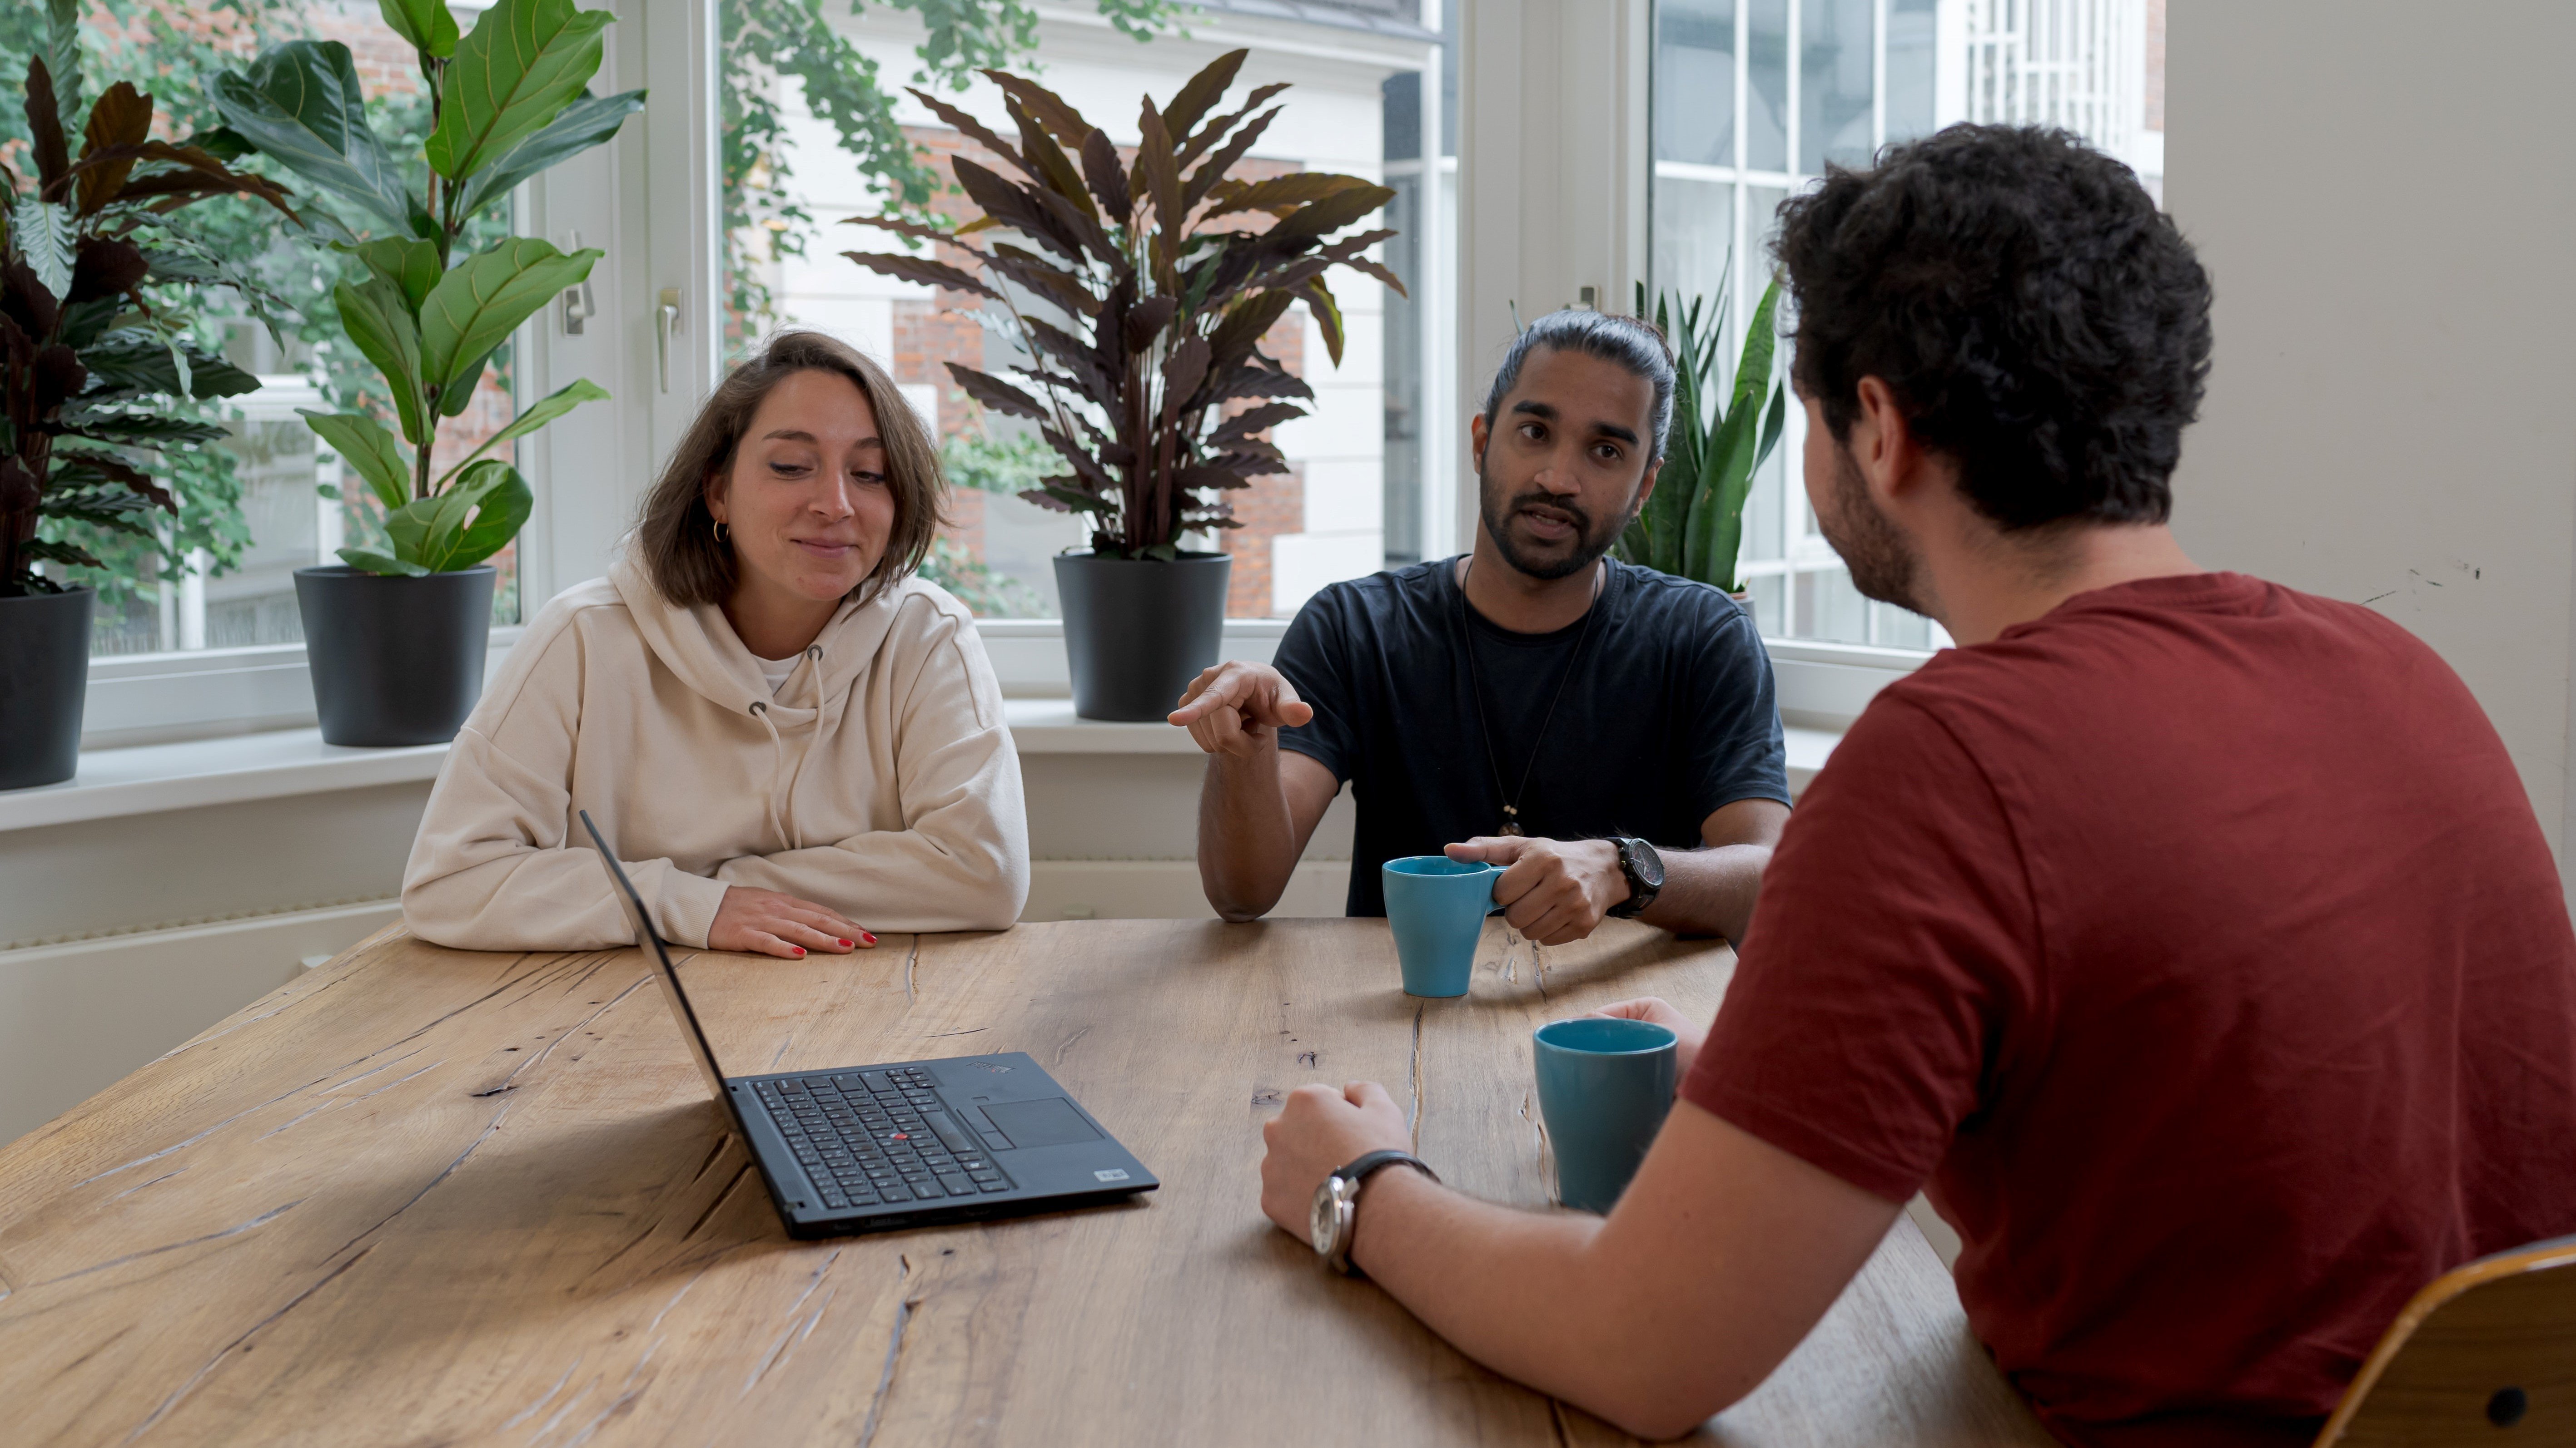
[[[1448,850],[1507,866],[1494,897],[1546,946],[1605,915],[1741,938],[1788,822],[1770,660],[1716,587],[1602,557],[1654,492],[1672,386],[1654,327],[1540,317],[1468,425],[1476,549],[1337,582],[1275,665],[1190,685],[1218,915],[1278,904],[1350,781],[1350,915],[1386,915],[1386,861]]]

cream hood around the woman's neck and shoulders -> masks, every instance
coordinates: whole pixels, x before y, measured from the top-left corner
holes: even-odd
[[[894,629],[894,611],[912,593],[912,580],[904,580],[878,590],[866,603],[842,600],[773,698],[770,683],[760,678],[760,660],[734,634],[721,608],[670,603],[634,559],[618,559],[608,569],[608,582],[626,603],[644,647],[662,660],[672,678],[708,703],[744,719],[765,719],[781,732],[809,729],[837,711],[835,701],[850,698],[853,685],[876,662],[878,647]]]

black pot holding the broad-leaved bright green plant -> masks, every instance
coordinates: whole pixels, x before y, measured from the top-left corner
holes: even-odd
[[[492,564],[425,577],[296,569],[325,745],[446,745],[482,698]]]

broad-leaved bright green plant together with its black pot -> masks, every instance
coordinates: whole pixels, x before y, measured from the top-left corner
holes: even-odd
[[[340,41],[289,41],[214,82],[227,134],[350,211],[355,273],[332,289],[340,327],[384,376],[402,441],[366,412],[304,412],[384,505],[384,544],[296,572],[314,709],[332,745],[435,745],[482,693],[497,554],[528,520],[528,482],[492,448],[608,389],[582,379],[531,405],[446,469],[438,433],[474,399],[520,322],[590,276],[600,250],[536,237],[466,250],[466,229],[531,175],[618,134],[644,93],[590,95],[608,10],[500,0],[459,39],[446,0],[379,0],[420,57],[430,134],[420,165],[366,124]],[[459,255],[464,252],[464,255]]]

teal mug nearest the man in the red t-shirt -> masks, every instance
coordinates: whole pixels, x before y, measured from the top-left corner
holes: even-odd
[[[1680,1046],[1651,1020],[1587,1015],[1540,1025],[1535,1049],[1556,1201],[1610,1211],[1672,1110]]]

